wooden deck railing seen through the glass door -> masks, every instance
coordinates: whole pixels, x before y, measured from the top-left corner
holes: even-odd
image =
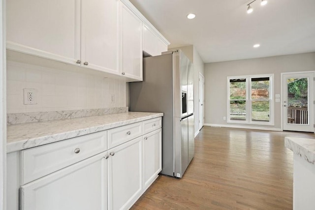
[[[308,124],[308,107],[287,107],[287,123]]]

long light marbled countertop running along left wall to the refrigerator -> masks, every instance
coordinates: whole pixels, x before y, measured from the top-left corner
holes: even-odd
[[[163,113],[126,112],[76,119],[7,125],[7,153],[83,136],[163,116]]]

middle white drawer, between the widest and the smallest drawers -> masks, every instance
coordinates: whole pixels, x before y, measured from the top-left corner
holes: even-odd
[[[142,122],[116,127],[107,132],[108,149],[111,149],[131,139],[142,136]]]

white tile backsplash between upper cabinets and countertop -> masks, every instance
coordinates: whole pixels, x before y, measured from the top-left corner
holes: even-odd
[[[25,88],[36,90],[37,104],[24,104]],[[7,62],[8,114],[111,107],[126,107],[126,81],[89,74],[84,69],[65,71]]]

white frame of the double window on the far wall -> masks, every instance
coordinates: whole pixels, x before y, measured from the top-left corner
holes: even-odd
[[[269,77],[269,121],[252,120],[252,101],[266,101],[252,99],[252,78]],[[246,79],[246,120],[231,120],[230,119],[230,80]],[[227,77],[227,123],[238,124],[255,124],[255,125],[275,125],[274,124],[274,74],[258,74],[258,75],[242,75]],[[242,99],[243,100],[243,99]]]

